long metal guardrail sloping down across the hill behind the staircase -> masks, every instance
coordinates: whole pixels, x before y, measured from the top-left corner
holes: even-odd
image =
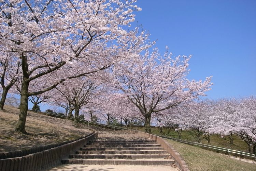
[[[67,118],[66,115],[59,115],[56,113],[50,113],[50,112],[45,112],[45,111],[38,111],[35,110],[35,112],[42,112],[45,113],[47,115],[51,115],[55,118]],[[74,120],[74,117],[70,117],[71,120]],[[87,121],[87,120],[83,120],[83,119],[78,119],[80,122],[84,122],[86,124],[88,124],[88,126],[91,125],[99,125],[100,128],[104,127],[110,127],[111,129],[115,130],[131,130],[131,129],[127,129],[124,127],[119,127],[119,126],[112,126],[112,125],[107,125],[107,124],[102,124],[102,123],[97,123],[97,122],[92,122],[92,121]],[[182,142],[182,143],[186,143],[186,144],[190,144],[190,145],[195,145],[195,146],[200,146],[200,147],[204,147],[204,148],[208,148],[208,149],[214,149],[214,150],[219,150],[219,151],[224,151],[224,152],[228,152],[228,154],[230,155],[230,153],[233,154],[238,154],[238,155],[242,155],[242,156],[247,156],[247,157],[252,157],[256,160],[256,155],[255,154],[251,154],[251,153],[245,153],[242,151],[237,151],[237,150],[231,150],[231,149],[226,149],[226,148],[222,148],[222,147],[216,147],[216,146],[211,146],[211,145],[207,145],[207,144],[203,144],[203,143],[198,143],[198,142],[192,142],[192,141],[187,141],[187,140],[181,140],[181,139],[177,139],[177,138],[172,138],[172,137],[167,137],[167,136],[162,136],[162,135],[157,135],[154,134],[156,136],[162,137],[162,138],[167,138],[167,139],[171,139],[174,141],[178,141],[178,142]]]

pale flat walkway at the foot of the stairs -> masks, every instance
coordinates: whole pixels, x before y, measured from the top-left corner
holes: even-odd
[[[48,171],[180,171],[171,166],[60,165]]]

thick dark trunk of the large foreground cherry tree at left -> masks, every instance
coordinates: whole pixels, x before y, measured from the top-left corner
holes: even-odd
[[[28,86],[29,82],[26,82],[25,79],[23,79],[22,90],[20,93],[19,120],[15,129],[16,132],[23,134],[27,134],[25,130],[25,125],[28,112]]]

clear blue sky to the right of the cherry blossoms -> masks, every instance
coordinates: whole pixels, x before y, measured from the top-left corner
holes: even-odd
[[[256,95],[256,0],[138,0],[136,21],[163,53],[193,55],[189,79],[213,75],[209,99]],[[132,25],[136,26],[136,22]]]

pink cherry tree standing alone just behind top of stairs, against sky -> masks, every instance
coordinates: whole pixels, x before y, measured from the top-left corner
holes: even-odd
[[[204,96],[204,92],[210,90],[211,77],[204,82],[186,78],[189,59],[190,56],[173,59],[168,48],[162,57],[158,49],[154,49],[134,62],[112,68],[115,80],[112,86],[122,90],[122,95],[140,110],[145,118],[145,132],[151,133],[152,114]]]

